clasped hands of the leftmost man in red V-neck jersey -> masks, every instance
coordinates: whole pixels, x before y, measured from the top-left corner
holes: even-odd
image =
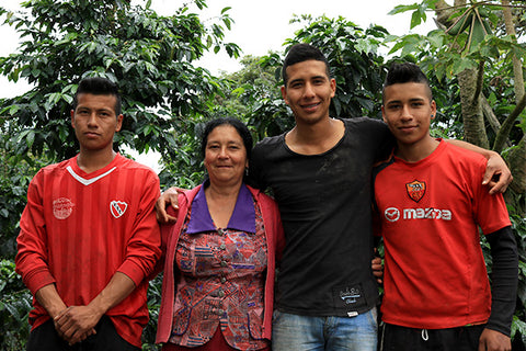
[[[89,306],[70,306],[54,318],[55,329],[69,346],[95,335],[102,315]]]

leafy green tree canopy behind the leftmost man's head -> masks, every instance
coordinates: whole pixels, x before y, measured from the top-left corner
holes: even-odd
[[[196,2],[204,7],[205,2]],[[10,80],[26,79],[34,89],[0,100],[0,115],[16,121],[22,154],[52,159],[77,152],[69,111],[77,82],[101,76],[118,82],[125,121],[116,143],[139,152],[153,149],[176,157],[182,121],[207,113],[221,84],[192,63],[209,47],[222,47],[227,9],[209,27],[183,7],[160,16],[128,1],[47,1],[24,3],[30,13],[12,13],[5,23],[23,38],[20,53],[0,58],[0,72]],[[235,44],[225,48],[238,56]],[[174,137],[175,136],[175,137]]]

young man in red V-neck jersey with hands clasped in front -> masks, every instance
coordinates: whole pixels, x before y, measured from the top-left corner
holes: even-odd
[[[116,84],[83,79],[71,111],[80,152],[30,184],[15,259],[34,297],[27,350],[141,348],[159,179],[113,150],[122,123]]]

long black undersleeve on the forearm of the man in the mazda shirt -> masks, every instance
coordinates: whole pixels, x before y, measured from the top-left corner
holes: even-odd
[[[511,335],[518,284],[518,253],[511,227],[488,234],[491,270],[491,315],[487,328]]]

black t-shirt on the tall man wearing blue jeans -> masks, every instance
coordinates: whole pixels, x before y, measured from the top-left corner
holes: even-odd
[[[380,121],[342,121],[344,136],[321,155],[291,151],[285,134],[252,151],[251,179],[272,189],[285,230],[276,306],[286,313],[354,316],[378,301],[370,269],[370,174],[393,138]]]

